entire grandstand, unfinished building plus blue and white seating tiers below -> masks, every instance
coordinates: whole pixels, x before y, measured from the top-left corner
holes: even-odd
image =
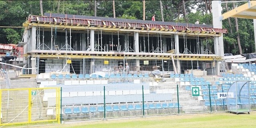
[[[30,79],[1,75],[6,86],[22,82],[36,89],[4,90],[2,125],[27,116],[51,121],[226,111],[229,103],[218,93],[239,80],[251,81],[249,105],[256,108],[256,65],[224,62],[227,30],[219,26],[52,13],[30,15],[23,26],[24,65],[17,68]],[[20,96],[33,105],[20,104]]]

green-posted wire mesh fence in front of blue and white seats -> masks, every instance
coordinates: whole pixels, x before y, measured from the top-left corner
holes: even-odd
[[[57,85],[62,88],[62,120],[227,111],[226,99],[217,95],[227,92],[226,81],[198,78],[177,85],[172,78],[165,80],[169,82]],[[256,108],[254,90],[252,86],[252,110]]]

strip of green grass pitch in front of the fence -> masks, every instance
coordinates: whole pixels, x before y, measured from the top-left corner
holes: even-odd
[[[35,126],[30,128],[35,128]],[[107,121],[88,120],[36,126],[36,128],[256,128],[256,111],[238,115],[229,112],[215,112],[118,118]]]

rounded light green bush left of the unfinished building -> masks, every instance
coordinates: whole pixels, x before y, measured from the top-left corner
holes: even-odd
[[[18,32],[16,32],[16,30],[13,30],[12,28],[6,28],[4,29],[4,32],[9,44],[18,44],[18,42],[20,42],[20,35]]]

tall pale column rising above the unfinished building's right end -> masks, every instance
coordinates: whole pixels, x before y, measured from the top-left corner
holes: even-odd
[[[213,28],[222,28],[222,7],[220,0],[214,0],[212,1],[212,22],[213,22]],[[223,48],[223,34],[220,37],[214,37],[214,42],[215,42],[215,48],[216,48],[216,54],[218,56],[223,56],[224,57],[224,48]]]

